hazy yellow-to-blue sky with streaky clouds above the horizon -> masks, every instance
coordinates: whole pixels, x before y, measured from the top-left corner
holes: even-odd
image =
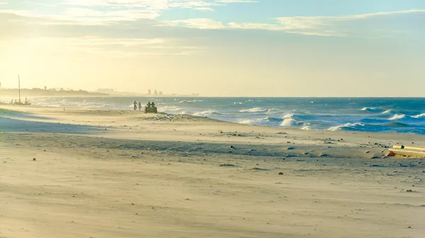
[[[422,0],[0,0],[0,82],[423,97],[424,39]]]

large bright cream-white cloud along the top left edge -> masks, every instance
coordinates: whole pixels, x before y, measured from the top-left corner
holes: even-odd
[[[196,11],[215,11],[215,6],[255,1],[208,1],[208,0],[58,0],[56,4],[38,3],[40,6],[62,6],[56,13],[40,13],[38,8],[31,11],[4,9],[0,12],[15,13],[19,16],[47,18],[80,25],[108,25],[118,21],[154,19],[171,8],[188,8]]]

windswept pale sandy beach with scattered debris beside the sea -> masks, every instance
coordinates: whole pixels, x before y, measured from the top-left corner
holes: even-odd
[[[0,106],[0,237],[424,237],[425,137]]]

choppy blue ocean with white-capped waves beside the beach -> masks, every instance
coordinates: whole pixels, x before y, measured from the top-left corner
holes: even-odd
[[[425,98],[35,97],[33,105],[132,110],[154,101],[159,112],[319,131],[425,134]]]

